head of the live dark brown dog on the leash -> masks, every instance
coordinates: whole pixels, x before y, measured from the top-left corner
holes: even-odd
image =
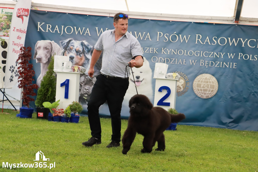
[[[148,114],[153,107],[149,98],[142,94],[136,94],[129,100],[130,114]]]

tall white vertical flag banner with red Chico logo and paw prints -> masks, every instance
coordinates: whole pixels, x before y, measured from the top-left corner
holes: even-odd
[[[31,0],[18,0],[14,7],[6,58],[4,88],[12,88],[18,81],[19,74],[16,60],[20,54],[20,48],[24,46],[30,6]]]

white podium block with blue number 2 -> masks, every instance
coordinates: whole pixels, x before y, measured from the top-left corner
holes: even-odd
[[[156,79],[154,92],[154,106],[162,107],[166,111],[176,105],[176,84],[177,79],[154,78]]]

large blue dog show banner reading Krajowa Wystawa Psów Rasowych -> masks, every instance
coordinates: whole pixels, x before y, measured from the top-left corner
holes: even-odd
[[[87,69],[90,49],[107,29],[114,29],[113,17],[31,10],[25,46],[35,54],[35,81],[44,72],[44,64],[36,63],[37,43],[58,45],[73,64]],[[258,130],[257,26],[130,18],[128,32],[139,40],[145,58],[143,67],[133,68],[139,94],[154,103],[154,67],[164,59],[167,72],[181,76],[176,96],[176,110],[186,115],[181,124]],[[87,78],[80,81],[83,114],[94,83]],[[128,118],[128,101],[136,94],[131,79],[122,118]],[[100,114],[110,115],[106,104]]]

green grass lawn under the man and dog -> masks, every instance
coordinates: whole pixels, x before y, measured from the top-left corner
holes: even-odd
[[[258,132],[178,125],[165,131],[166,150],[142,154],[141,135],[127,155],[122,144],[106,148],[111,138],[111,120],[101,118],[102,144],[84,147],[90,135],[88,118],[79,123],[21,119],[18,112],[0,113],[0,160],[9,163],[35,163],[41,150],[55,168],[14,168],[15,171],[258,171]],[[122,120],[122,135],[127,121]],[[2,168],[0,171],[10,171]]]

